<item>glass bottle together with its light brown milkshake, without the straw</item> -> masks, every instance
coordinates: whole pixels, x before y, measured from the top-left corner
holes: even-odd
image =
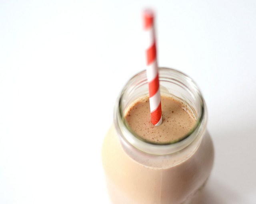
[[[213,163],[206,108],[196,84],[160,68],[163,122],[150,124],[146,73],[120,94],[102,162],[113,204],[184,204],[204,186]]]

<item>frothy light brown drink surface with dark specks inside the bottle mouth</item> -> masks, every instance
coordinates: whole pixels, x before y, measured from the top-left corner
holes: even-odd
[[[184,138],[196,125],[196,117],[185,102],[171,96],[161,96],[162,124],[154,126],[150,118],[148,96],[135,100],[126,110],[130,128],[150,143],[174,143]]]

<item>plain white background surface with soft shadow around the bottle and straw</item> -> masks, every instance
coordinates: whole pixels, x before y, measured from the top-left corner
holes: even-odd
[[[0,203],[109,204],[100,150],[125,82],[159,66],[192,77],[215,163],[206,204],[256,203],[256,2],[0,0]]]

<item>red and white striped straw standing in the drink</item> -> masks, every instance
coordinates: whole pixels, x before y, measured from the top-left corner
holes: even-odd
[[[154,126],[159,126],[162,124],[162,108],[159,88],[158,65],[156,59],[154,12],[152,12],[152,10],[145,10],[143,16],[146,40],[146,70],[149,88],[151,122]]]

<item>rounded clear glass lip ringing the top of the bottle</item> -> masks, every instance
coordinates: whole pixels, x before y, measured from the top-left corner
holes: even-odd
[[[188,148],[193,143],[196,143],[198,139],[200,139],[200,135],[203,135],[206,129],[206,121],[207,121],[207,111],[206,111],[206,104],[202,97],[202,94],[197,86],[197,84],[186,74],[177,71],[172,68],[159,68],[159,80],[161,82],[164,75],[167,74],[168,77],[175,79],[177,82],[180,82],[182,85],[186,86],[186,88],[190,87],[195,91],[195,94],[198,101],[200,102],[200,110],[197,116],[197,123],[196,126],[190,133],[188,133],[184,139],[170,144],[154,144],[149,143],[141,139],[128,125],[124,118],[124,107],[122,104],[122,100],[124,98],[124,94],[127,91],[131,91],[135,88],[132,85],[134,82],[140,80],[140,82],[146,82],[146,70],[141,71],[134,75],[134,77],[130,78],[130,80],[126,83],[120,96],[117,99],[117,103],[114,110],[114,124],[116,130],[120,135],[120,139],[122,142],[126,143],[126,145],[132,145],[136,149],[148,153],[151,155],[170,155],[182,151]]]

